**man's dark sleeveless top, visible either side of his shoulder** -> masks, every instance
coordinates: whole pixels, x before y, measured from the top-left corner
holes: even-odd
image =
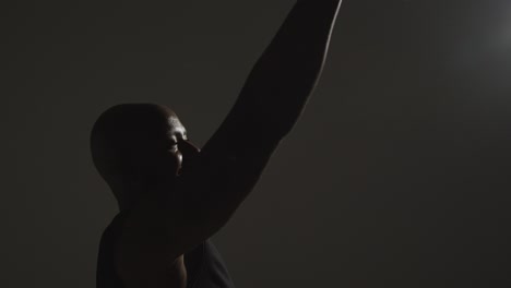
[[[120,235],[126,213],[119,213],[105,229],[97,257],[96,288],[124,288],[114,267],[114,243]],[[211,240],[185,254],[187,288],[234,288],[221,254]]]

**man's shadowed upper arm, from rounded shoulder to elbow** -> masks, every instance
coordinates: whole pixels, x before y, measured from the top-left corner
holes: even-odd
[[[166,266],[213,236],[255,185],[280,140],[226,131],[215,133],[174,191],[131,209],[118,243],[124,277],[144,275],[141,263]]]

